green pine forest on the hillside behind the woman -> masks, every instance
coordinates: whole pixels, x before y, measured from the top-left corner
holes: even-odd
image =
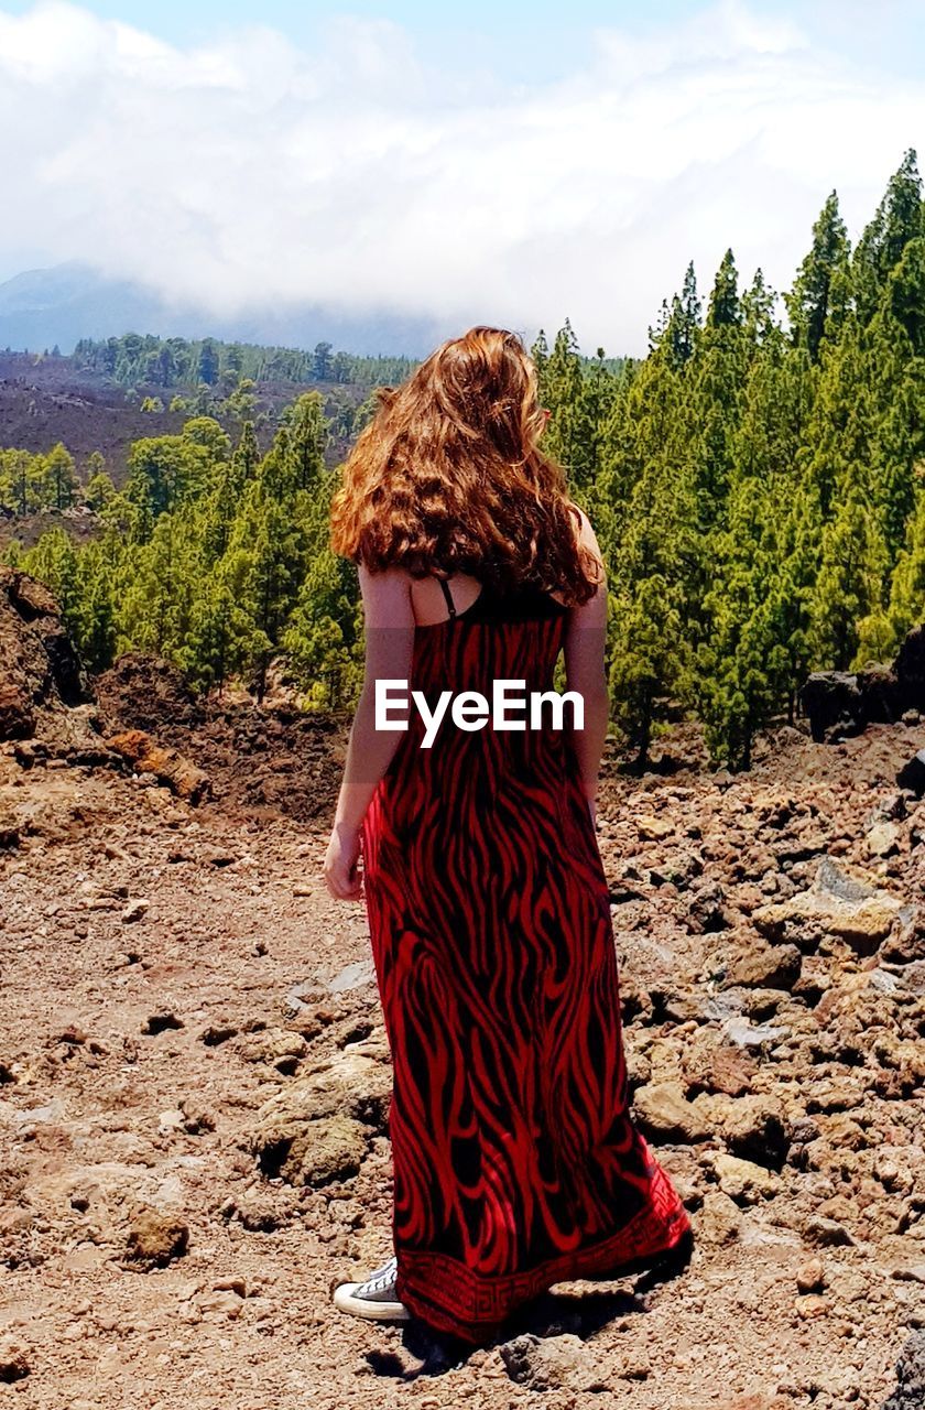
[[[783,296],[760,269],[743,282],[729,250],[702,293],[687,269],[644,358],[582,357],[568,324],[537,338],[546,446],[605,551],[615,723],[640,761],[692,716],[713,760],[747,768],[756,733],[792,721],[811,670],[883,660],[922,620],[924,212],[909,151],[854,245],[832,192]],[[410,364],[326,355],[78,345],[75,362],[116,384],[195,386],[165,407],[176,430],[133,443],[123,484],[102,461],[78,474],[63,446],[0,451],[13,520],[93,516],[82,544],[62,519],[4,550],[52,588],[92,670],[154,651],[200,689],[243,677],[259,699],[283,654],[309,706],[351,702],[361,623],[354,570],[327,546],[336,460],[374,382]],[[321,372],[362,391],[350,423],[312,389],[258,426],[262,378]]]

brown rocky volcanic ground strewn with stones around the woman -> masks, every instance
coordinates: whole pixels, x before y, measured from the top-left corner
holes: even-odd
[[[643,777],[609,757],[635,1110],[695,1252],[460,1354],[330,1304],[389,1251],[365,915],[319,877],[343,726],[168,680],[145,730],[137,667],[17,737],[34,666],[0,680],[0,1400],[925,1403],[925,725],[781,729],[736,777],[687,726]]]

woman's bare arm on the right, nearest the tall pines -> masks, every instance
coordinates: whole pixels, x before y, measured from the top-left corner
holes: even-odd
[[[609,694],[604,670],[608,595],[601,548],[585,513],[581,515],[578,540],[601,564],[601,581],[596,591],[581,606],[570,609],[565,629],[567,688],[578,691],[585,704],[585,728],[572,730],[571,737],[578,756],[581,781],[591,808],[591,816],[594,818],[601,756],[604,754],[609,719]]]

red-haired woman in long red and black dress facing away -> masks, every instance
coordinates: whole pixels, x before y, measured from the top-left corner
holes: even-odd
[[[367,667],[324,874],[338,898],[365,895],[395,1177],[393,1256],[334,1301],[470,1342],[553,1283],[691,1244],[629,1110],[594,821],[606,587],[544,423],[522,341],[472,329],[381,393],[333,506]],[[430,712],[447,691],[491,702],[496,681],[529,698],[553,689],[560,651],[582,729],[549,704],[502,728],[474,697],[427,747],[420,709],[375,728],[376,681],[408,681],[398,694]]]

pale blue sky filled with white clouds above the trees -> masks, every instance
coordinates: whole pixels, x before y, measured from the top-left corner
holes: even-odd
[[[924,128],[918,0],[0,0],[0,279],[640,352],[688,259],[788,285],[832,188],[856,235]]]

